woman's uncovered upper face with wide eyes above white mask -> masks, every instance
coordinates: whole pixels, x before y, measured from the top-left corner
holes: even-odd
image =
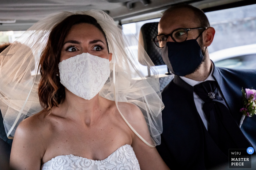
[[[108,53],[105,37],[97,27],[86,23],[74,25],[64,40],[60,62],[86,52],[112,59],[112,53]]]

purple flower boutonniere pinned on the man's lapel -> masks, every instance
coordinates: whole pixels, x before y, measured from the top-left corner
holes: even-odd
[[[242,112],[242,118],[240,120],[239,127],[242,126],[245,116],[252,117],[256,114],[256,90],[242,88],[243,104],[244,107],[240,109]]]

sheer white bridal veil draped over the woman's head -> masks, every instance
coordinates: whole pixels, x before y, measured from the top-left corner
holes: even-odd
[[[144,66],[153,73],[144,76],[140,70],[137,54],[133,54],[133,44],[128,41],[122,27],[103,11],[90,10],[80,12],[61,12],[52,14],[30,27],[11,46],[0,54],[0,109],[4,118],[8,138],[13,138],[18,124],[27,116],[40,112],[38,84],[41,75],[38,63],[42,50],[46,47],[49,33],[54,26],[66,17],[75,14],[94,17],[103,28],[109,43],[109,52],[113,53],[110,62],[110,77],[99,95],[113,100],[121,116],[148,146],[161,143],[163,103],[159,90],[158,72],[144,51],[138,47]],[[129,39],[138,40],[133,35]],[[136,44],[136,43],[134,43]],[[128,113],[123,102],[133,103],[140,108],[148,129],[142,127],[136,113]],[[143,120],[144,121],[144,120]],[[147,137],[149,131],[151,137]]]

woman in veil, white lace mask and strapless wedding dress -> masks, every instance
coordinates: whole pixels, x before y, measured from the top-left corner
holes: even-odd
[[[113,19],[96,10],[62,12],[19,41],[0,55],[12,168],[168,169],[154,147],[163,104],[153,63],[139,47],[154,74],[144,78]]]

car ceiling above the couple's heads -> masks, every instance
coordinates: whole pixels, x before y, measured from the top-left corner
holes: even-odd
[[[237,1],[242,0],[0,0],[0,31],[26,30],[60,11],[100,9],[123,24],[161,17],[173,4],[189,3],[202,9]],[[14,20],[15,23],[6,23]]]

